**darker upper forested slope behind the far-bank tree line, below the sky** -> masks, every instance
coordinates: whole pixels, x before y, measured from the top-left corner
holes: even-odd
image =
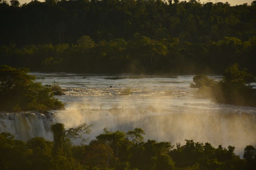
[[[84,35],[97,42],[129,40],[136,32],[154,39],[177,37],[189,42],[219,40],[224,36],[246,39],[255,36],[254,4],[232,7],[228,3],[196,0],[46,0],[19,7],[18,1],[12,0],[11,6],[0,5],[6,18],[1,19],[6,27],[0,28],[0,43],[76,43]]]

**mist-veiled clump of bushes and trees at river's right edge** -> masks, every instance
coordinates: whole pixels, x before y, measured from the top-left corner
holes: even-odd
[[[256,89],[250,85],[255,82],[255,77],[247,71],[240,70],[235,63],[225,69],[222,81],[217,82],[203,74],[197,74],[190,86],[199,88],[197,94],[219,103],[256,106]]]

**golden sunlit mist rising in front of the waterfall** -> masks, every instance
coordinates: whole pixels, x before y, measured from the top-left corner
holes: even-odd
[[[183,112],[159,108],[150,105],[146,108],[113,107],[110,109],[91,109],[88,105],[73,105],[55,115],[57,122],[64,123],[66,128],[79,124],[92,124],[90,135],[84,136],[90,140],[102,133],[107,127],[110,131],[128,131],[142,128],[147,139],[170,141],[172,144],[185,139],[195,142],[209,142],[217,147],[235,146],[236,153],[242,155],[244,147],[256,145],[256,115],[253,108],[248,112],[239,110],[229,112],[229,108],[220,105],[219,108],[198,109],[197,106],[184,107]],[[227,109],[228,113],[219,110]],[[250,113],[250,109],[252,112]],[[75,141],[79,144],[80,141]]]

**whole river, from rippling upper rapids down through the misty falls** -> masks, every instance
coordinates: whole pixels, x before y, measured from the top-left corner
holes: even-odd
[[[52,140],[50,125],[59,122],[66,128],[92,124],[91,134],[84,136],[90,139],[104,127],[112,131],[139,127],[146,132],[145,140],[184,144],[185,139],[193,139],[215,147],[235,146],[240,155],[246,145],[256,145],[256,108],[197,97],[197,89],[189,88],[193,75],[31,74],[42,84],[57,82],[65,95],[56,97],[66,109],[49,114],[1,113],[0,132],[11,132],[18,139]]]

